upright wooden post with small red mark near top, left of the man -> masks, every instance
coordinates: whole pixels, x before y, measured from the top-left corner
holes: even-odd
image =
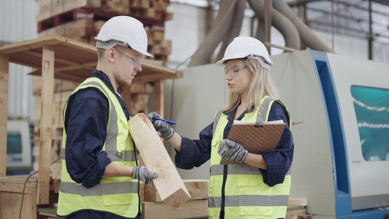
[[[44,46],[42,50],[42,105],[40,114],[40,147],[38,205],[49,204],[51,138],[53,126],[54,48]]]

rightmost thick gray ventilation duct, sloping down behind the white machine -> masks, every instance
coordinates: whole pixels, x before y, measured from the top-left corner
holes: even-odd
[[[310,28],[305,25],[303,21],[301,21],[301,19],[297,16],[297,14],[293,12],[293,10],[289,7],[289,5],[287,5],[285,1],[273,0],[273,7],[292,21],[301,36],[301,40],[305,44],[307,44],[309,48],[334,53],[331,48],[329,48],[324,42],[322,42],[319,37],[317,37],[312,32],[312,30],[310,30]]]

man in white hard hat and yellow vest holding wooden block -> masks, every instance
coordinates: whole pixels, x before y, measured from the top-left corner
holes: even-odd
[[[154,187],[157,173],[138,166],[128,131],[130,113],[117,92],[142,71],[147,35],[135,18],[117,16],[101,28],[93,76],[70,95],[65,109],[57,215],[71,219],[140,219],[139,180]]]

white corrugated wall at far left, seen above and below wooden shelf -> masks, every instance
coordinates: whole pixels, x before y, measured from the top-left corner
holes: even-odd
[[[35,0],[0,0],[0,41],[19,42],[34,39],[37,34],[36,15],[38,3]],[[28,117],[33,111],[30,67],[9,65],[8,115]]]

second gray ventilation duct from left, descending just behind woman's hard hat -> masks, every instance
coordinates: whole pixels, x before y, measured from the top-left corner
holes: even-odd
[[[223,44],[219,50],[219,54],[216,56],[216,61],[221,60],[224,57],[224,52],[226,51],[227,46],[230,42],[233,41],[235,37],[239,36],[240,29],[242,28],[242,22],[244,17],[244,10],[246,7],[246,0],[239,0],[235,5],[235,12],[232,18],[232,24],[230,30],[226,37],[224,38]]]

